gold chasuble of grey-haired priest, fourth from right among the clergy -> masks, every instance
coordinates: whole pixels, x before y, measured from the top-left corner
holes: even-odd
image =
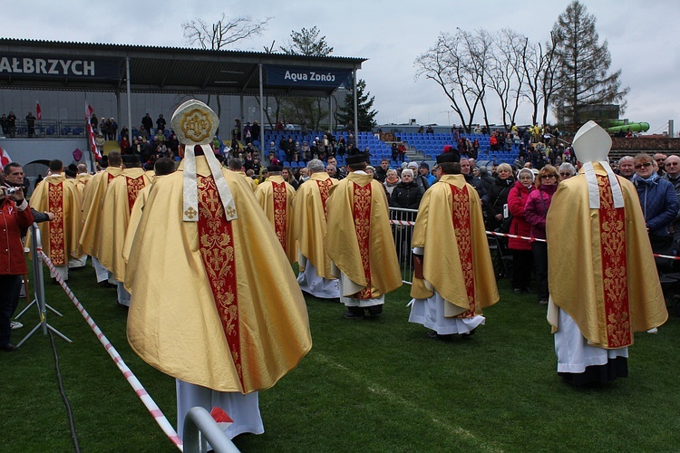
[[[316,275],[329,280],[335,276],[331,273],[331,260],[324,246],[328,217],[326,201],[337,183],[337,179],[325,172],[312,173],[293,198],[293,224],[300,253],[316,267]]]

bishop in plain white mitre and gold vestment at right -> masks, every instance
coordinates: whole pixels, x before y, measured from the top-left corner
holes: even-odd
[[[668,317],[636,188],[617,177],[594,121],[574,136],[583,167],[559,183],[546,220],[548,321],[558,373],[574,385],[627,376],[628,346]]]

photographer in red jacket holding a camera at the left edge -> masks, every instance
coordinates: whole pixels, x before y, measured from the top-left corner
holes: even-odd
[[[3,179],[0,185],[0,351],[12,352],[10,325],[19,302],[21,276],[27,274],[22,230],[34,222],[33,214],[24,198],[23,188],[8,188]]]

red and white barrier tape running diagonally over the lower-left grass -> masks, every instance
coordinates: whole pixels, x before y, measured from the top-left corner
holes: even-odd
[[[137,379],[137,377],[130,370],[130,368],[128,368],[128,366],[125,364],[125,361],[122,360],[121,354],[119,354],[118,351],[116,351],[112,343],[109,342],[109,339],[106,338],[106,336],[102,333],[100,328],[97,327],[97,324],[94,323],[92,317],[90,317],[90,314],[87,313],[83,305],[80,302],[78,302],[78,299],[75,297],[75,294],[73,294],[73,291],[71,291],[71,288],[68,287],[68,285],[63,281],[62,276],[59,275],[54,269],[54,265],[52,263],[52,260],[50,260],[49,256],[44,254],[42,248],[38,248],[37,250],[38,255],[40,255],[40,257],[43,259],[45,265],[47,265],[47,267],[50,268],[52,274],[56,277],[57,282],[59,282],[59,284],[62,285],[63,290],[66,292],[66,295],[68,295],[73,304],[75,304],[75,307],[83,315],[85,321],[87,321],[87,323],[90,324],[92,331],[94,332],[95,335],[97,335],[97,338],[102,343],[102,346],[104,347],[106,352],[109,353],[109,355],[115,362],[116,366],[121,371],[122,375],[125,376],[125,379],[131,385],[132,389],[135,391],[135,393],[137,393],[137,396],[140,397],[141,402],[144,404],[144,406],[146,406],[146,409],[149,410],[153,419],[156,420],[156,423],[158,423],[160,429],[163,430],[165,435],[168,436],[168,438],[170,438],[170,441],[173,444],[175,444],[177,448],[180,448],[180,451],[183,451],[183,444],[180,439],[180,436],[178,436],[177,431],[175,431],[175,429],[172,428],[172,425],[170,425],[170,421],[168,421],[165,415],[163,415],[163,412],[160,411],[156,402],[144,389],[144,387],[141,385],[141,382]]]

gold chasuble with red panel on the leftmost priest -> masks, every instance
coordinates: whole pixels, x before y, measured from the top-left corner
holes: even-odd
[[[81,227],[80,196],[73,182],[63,176],[48,176],[35,188],[31,207],[52,212],[51,222],[38,224],[43,251],[53,265],[68,265],[69,259],[83,255],[78,235]]]

